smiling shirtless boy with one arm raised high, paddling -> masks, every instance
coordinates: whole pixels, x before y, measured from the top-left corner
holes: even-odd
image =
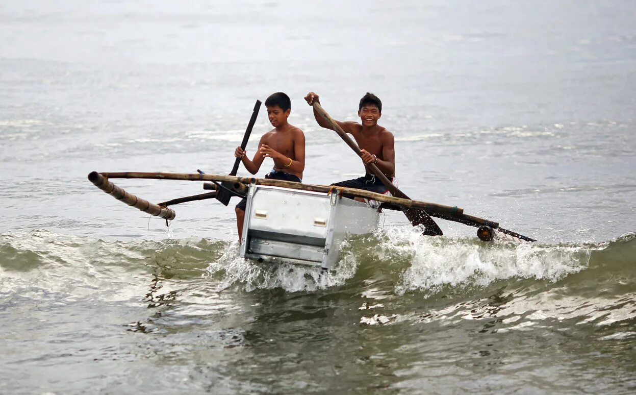
[[[305,96],[305,100],[311,106],[314,102],[319,103],[318,95],[309,92]],[[345,186],[347,188],[357,188],[359,190],[367,190],[382,194],[389,194],[386,186],[378,179],[375,174],[368,168],[370,163],[380,169],[381,172],[397,186],[395,180],[395,141],[393,134],[384,127],[378,125],[378,120],[382,116],[382,102],[374,94],[366,93],[360,99],[358,106],[358,116],[361,123],[347,121],[336,121],[345,132],[354,137],[362,151],[362,162],[364,163],[365,174],[363,177],[340,181],[333,185]],[[320,114],[314,109],[314,118],[321,127],[333,130],[328,121],[324,120]],[[356,200],[359,200],[356,198]]]

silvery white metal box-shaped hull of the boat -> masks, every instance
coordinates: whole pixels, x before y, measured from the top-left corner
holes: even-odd
[[[252,184],[247,193],[240,255],[331,269],[347,233],[377,228],[380,213],[337,191],[299,191]]]

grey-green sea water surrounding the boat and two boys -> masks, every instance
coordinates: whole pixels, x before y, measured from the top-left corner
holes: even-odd
[[[627,1],[4,2],[0,392],[633,392],[634,20]],[[401,190],[539,242],[387,212],[334,272],[262,267],[231,207],[166,228],[86,180],[227,174],[277,91],[303,181],[359,176],[310,90],[338,120],[374,92]]]

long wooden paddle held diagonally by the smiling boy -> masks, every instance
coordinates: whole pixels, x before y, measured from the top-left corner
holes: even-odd
[[[310,104],[310,106],[313,106],[315,111],[318,114],[320,114],[322,116],[322,118],[324,118],[326,121],[328,121],[329,125],[331,125],[333,130],[335,130],[335,132],[338,135],[340,135],[340,137],[347,143],[347,145],[351,149],[354,150],[354,152],[358,156],[362,156],[362,151],[357,146],[356,142],[354,142],[351,139],[351,137],[349,137],[345,133],[345,131],[342,130],[340,125],[338,125],[338,123],[336,123],[336,121],[333,120],[333,118],[331,118],[331,116],[329,116],[327,111],[324,111],[324,109],[322,108],[322,106],[321,106],[321,104],[319,102],[314,102],[313,104]],[[380,181],[382,181],[384,186],[387,187],[387,190],[389,190],[391,192],[391,195],[393,195],[394,197],[399,197],[399,198],[411,200],[410,197],[406,196],[406,193],[404,193],[403,191],[397,189],[397,187],[393,183],[391,183],[391,181],[387,178],[387,176],[385,176],[384,173],[382,171],[380,171],[380,169],[378,169],[378,167],[375,165],[375,163],[369,163],[367,165],[367,167],[369,169],[371,169],[373,174],[375,174],[375,176],[378,177],[380,179]],[[435,223],[435,221],[433,221],[431,216],[429,216],[429,214],[427,214],[424,210],[408,208],[408,209],[403,209],[402,212],[404,212],[404,215],[406,215],[406,218],[408,218],[408,220],[411,222],[411,224],[413,224],[413,226],[417,226],[417,225],[424,225],[425,226],[424,235],[427,235],[427,236],[441,236],[443,234],[441,232],[441,229],[439,228],[439,226]]]

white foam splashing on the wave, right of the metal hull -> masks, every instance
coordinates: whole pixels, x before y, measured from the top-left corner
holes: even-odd
[[[442,286],[478,285],[511,277],[557,281],[588,264],[581,244],[539,244],[495,239],[485,244],[456,237],[422,237],[417,228],[392,228],[380,236],[382,260],[408,261],[396,292],[432,293]]]

